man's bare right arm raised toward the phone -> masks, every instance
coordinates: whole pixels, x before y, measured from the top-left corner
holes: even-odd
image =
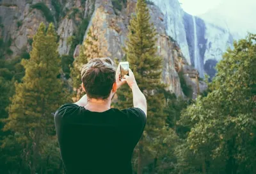
[[[147,100],[145,95],[141,92],[138,84],[136,83],[134,74],[131,69],[129,69],[129,76],[124,75],[124,78],[127,84],[130,86],[132,90],[132,97],[133,97],[133,106],[140,108],[144,111],[145,115],[147,116]]]

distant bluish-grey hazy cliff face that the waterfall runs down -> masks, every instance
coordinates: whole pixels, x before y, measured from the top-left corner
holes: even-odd
[[[185,58],[200,77],[214,76],[214,66],[223,52],[232,47],[233,37],[228,28],[214,25],[189,15],[177,0],[152,0],[164,14],[166,33],[177,40]]]

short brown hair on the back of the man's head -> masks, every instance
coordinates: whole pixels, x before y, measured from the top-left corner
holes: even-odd
[[[93,58],[81,71],[85,92],[90,99],[108,99],[116,81],[114,62],[110,58]]]

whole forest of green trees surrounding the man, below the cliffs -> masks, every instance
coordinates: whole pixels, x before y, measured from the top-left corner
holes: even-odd
[[[146,1],[138,0],[135,14],[124,60],[145,93],[148,118],[134,149],[133,173],[256,173],[256,35],[248,33],[227,49],[211,82],[205,76],[207,91],[196,99],[177,97],[161,82],[163,58],[157,56],[157,32]],[[84,95],[81,67],[109,56],[92,31],[93,26],[70,66],[69,57],[58,54],[52,23],[42,22],[31,52],[13,59],[6,59],[12,54],[10,41],[0,39],[0,173],[64,173],[54,112]],[[184,79],[180,83],[184,94],[191,92]],[[128,86],[117,96],[113,107],[132,107]]]

